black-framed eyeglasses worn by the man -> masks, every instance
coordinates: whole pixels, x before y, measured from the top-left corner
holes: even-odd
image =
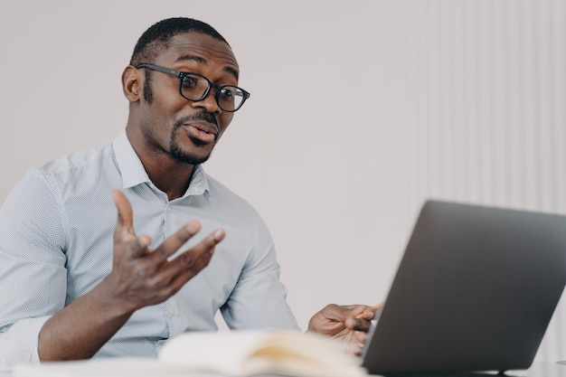
[[[216,103],[222,111],[234,112],[241,108],[250,93],[234,85],[217,85],[203,75],[193,72],[175,71],[155,64],[138,64],[136,68],[148,68],[160,71],[179,78],[179,94],[190,101],[203,100],[208,96],[211,88],[216,90]]]

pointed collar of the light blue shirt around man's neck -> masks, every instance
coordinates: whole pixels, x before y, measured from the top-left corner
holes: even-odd
[[[152,184],[149,176],[146,173],[146,168],[137,156],[134,147],[127,139],[126,129],[118,134],[112,143],[114,149],[114,156],[118,169],[122,175],[123,188],[127,189],[134,187],[137,184]],[[191,195],[204,195],[208,198],[210,193],[210,186],[206,174],[204,173],[201,165],[194,166],[193,177],[191,184],[184,193],[183,197]]]

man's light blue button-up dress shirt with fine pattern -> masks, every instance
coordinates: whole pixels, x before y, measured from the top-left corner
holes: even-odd
[[[165,303],[137,310],[95,357],[156,356],[171,336],[217,330],[219,309],[231,329],[298,329],[259,214],[201,166],[184,196],[169,202],[123,131],[111,145],[31,169],[0,209],[0,366],[38,363],[43,323],[110,272],[115,188],[154,248],[190,219],[202,231],[186,247],[219,227],[226,238],[206,269]]]

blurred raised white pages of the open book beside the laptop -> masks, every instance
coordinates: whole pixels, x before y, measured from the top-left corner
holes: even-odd
[[[365,375],[340,341],[292,331],[187,333],[165,344],[159,355],[167,365],[229,376],[280,374],[308,377]]]

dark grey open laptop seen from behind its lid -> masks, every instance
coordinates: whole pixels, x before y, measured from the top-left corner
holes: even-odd
[[[566,216],[426,202],[362,366],[528,369],[566,283]]]

